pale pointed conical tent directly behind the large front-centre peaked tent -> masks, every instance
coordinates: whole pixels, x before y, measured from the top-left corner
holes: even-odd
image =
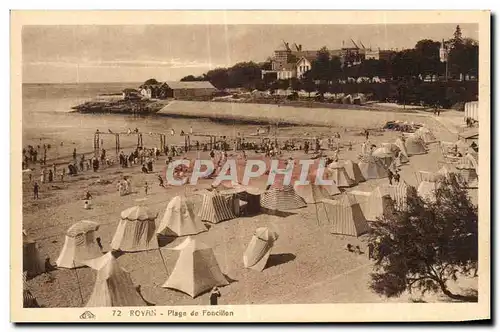
[[[207,227],[194,213],[192,204],[184,196],[175,196],[168,203],[156,233],[185,236],[205,231],[207,231]]]

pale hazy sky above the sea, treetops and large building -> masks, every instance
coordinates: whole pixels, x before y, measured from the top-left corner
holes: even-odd
[[[449,39],[457,24],[24,26],[23,82],[173,81],[265,61],[283,40],[303,50],[338,49],[351,38],[367,48],[404,49]],[[460,27],[463,37],[478,39],[478,25]]]

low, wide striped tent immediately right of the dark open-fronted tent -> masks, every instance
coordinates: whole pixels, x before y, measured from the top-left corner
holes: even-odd
[[[306,207],[307,203],[291,185],[286,185],[265,191],[260,196],[260,206],[272,211],[287,211]]]

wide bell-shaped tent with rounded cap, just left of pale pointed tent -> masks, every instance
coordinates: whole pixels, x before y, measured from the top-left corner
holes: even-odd
[[[111,248],[130,252],[157,249],[155,219],[156,214],[142,205],[123,211]]]

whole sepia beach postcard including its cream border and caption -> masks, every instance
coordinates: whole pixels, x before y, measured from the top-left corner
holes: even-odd
[[[490,317],[489,12],[71,13],[11,13],[13,321]]]

